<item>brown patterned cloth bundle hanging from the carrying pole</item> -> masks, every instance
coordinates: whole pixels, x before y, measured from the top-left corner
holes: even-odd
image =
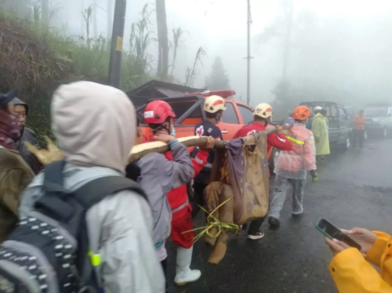
[[[245,224],[267,215],[269,206],[269,173],[267,136],[258,132],[252,136],[232,139],[224,150],[217,150],[212,168],[210,184],[204,191],[207,211],[221,206],[214,216],[220,222]],[[218,230],[210,230],[212,236]],[[209,262],[218,264],[227,249],[227,231],[223,230],[215,239],[206,236],[206,241],[215,245]]]

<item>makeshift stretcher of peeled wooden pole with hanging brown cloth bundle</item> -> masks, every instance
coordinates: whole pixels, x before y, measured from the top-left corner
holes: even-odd
[[[292,125],[283,126],[283,129]],[[267,136],[276,132],[272,127],[250,136],[230,141],[216,140],[218,150],[212,167],[210,184],[204,192],[207,228],[203,227],[205,240],[214,245],[209,262],[219,264],[227,250],[228,232],[238,232],[238,227],[253,219],[267,215],[269,206],[269,173]],[[49,150],[30,150],[44,164],[62,159],[60,150],[48,140]],[[187,147],[204,146],[206,136],[189,136],[178,139]],[[143,143],[132,148],[128,163],[151,153],[165,153],[169,145],[160,141]],[[45,161],[46,159],[46,161]],[[200,238],[200,235],[198,235]]]

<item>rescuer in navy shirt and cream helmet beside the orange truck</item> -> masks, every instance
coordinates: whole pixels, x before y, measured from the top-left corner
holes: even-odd
[[[216,95],[209,96],[203,105],[206,119],[195,126],[194,135],[196,136],[212,136],[215,139],[223,140],[221,130],[216,126],[223,117],[223,112],[226,110],[225,100]],[[196,157],[199,152],[199,147],[195,146],[191,156]],[[192,218],[196,217],[200,208],[198,205],[204,205],[203,191],[209,183],[209,177],[214,163],[215,150],[212,149],[207,159],[207,164],[200,171],[194,179],[194,199],[192,201]]]

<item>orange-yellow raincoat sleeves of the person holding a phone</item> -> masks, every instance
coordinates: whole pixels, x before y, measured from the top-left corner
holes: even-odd
[[[356,248],[338,253],[329,272],[340,293],[392,293],[392,237],[375,232],[377,240],[366,254]],[[381,275],[369,263],[381,268]]]

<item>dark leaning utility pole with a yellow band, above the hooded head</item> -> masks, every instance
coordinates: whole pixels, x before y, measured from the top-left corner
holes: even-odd
[[[121,54],[122,43],[124,37],[125,10],[127,8],[127,0],[116,0],[114,4],[114,18],[112,43],[109,60],[109,74],[107,76],[107,84],[112,87],[120,87],[120,71],[121,71]]]

